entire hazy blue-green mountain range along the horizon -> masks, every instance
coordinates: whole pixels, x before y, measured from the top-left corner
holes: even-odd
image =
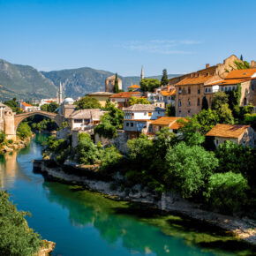
[[[61,81],[64,96],[77,98],[81,95],[103,91],[105,79],[113,72],[95,70],[88,67],[52,72],[39,72],[32,66],[11,64],[0,59],[0,100],[13,97],[23,100],[56,97]],[[169,74],[169,78],[178,74]],[[139,84],[139,76],[122,77],[124,90],[131,84]],[[160,76],[151,78],[161,79]]]

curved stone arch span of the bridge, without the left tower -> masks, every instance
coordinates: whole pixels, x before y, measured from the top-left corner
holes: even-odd
[[[49,119],[53,120],[56,125],[58,127],[61,127],[62,123],[64,122],[64,117],[56,114],[56,113],[51,113],[51,112],[47,112],[47,111],[41,111],[41,110],[37,110],[37,111],[31,111],[31,112],[26,112],[26,113],[21,113],[18,115],[14,116],[14,132],[16,134],[18,128],[19,128],[19,124],[26,119],[27,117],[32,117],[35,115],[39,115],[42,117],[49,117]]]

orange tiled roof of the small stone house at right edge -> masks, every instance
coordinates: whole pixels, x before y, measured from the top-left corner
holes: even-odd
[[[238,138],[248,127],[250,127],[250,125],[216,124],[211,131],[207,132],[207,136]]]

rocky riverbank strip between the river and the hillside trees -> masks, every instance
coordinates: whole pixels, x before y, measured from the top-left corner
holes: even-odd
[[[115,187],[113,182],[73,175],[67,173],[61,167],[49,168],[43,161],[36,162],[36,165],[38,169],[41,169],[41,173],[45,177],[64,183],[83,185],[88,190],[102,192],[102,194],[114,200],[129,200],[142,203],[165,212],[176,213],[201,222],[207,222],[224,230],[229,230],[237,239],[256,245],[256,222],[247,217],[221,215],[206,211],[202,209],[200,204],[184,200],[176,192],[166,192],[159,195],[150,192],[145,187],[142,188],[139,184],[129,190],[120,189],[120,187]],[[122,178],[117,174],[114,180],[120,181]]]

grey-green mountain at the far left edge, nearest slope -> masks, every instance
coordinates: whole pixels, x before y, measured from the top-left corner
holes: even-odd
[[[21,99],[56,96],[56,86],[32,66],[0,59],[1,99],[12,93]]]

